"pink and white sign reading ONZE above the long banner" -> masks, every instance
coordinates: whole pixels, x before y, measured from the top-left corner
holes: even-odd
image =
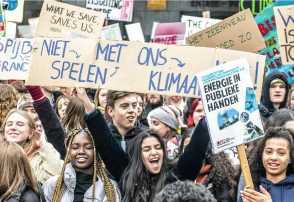
[[[185,45],[186,23],[159,23],[154,32],[153,43]]]

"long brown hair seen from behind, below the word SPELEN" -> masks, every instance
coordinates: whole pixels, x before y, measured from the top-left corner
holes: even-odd
[[[85,107],[82,100],[78,97],[72,98],[66,109],[64,117],[61,119],[61,124],[66,129],[66,133],[70,133],[76,128],[85,128],[84,121]]]

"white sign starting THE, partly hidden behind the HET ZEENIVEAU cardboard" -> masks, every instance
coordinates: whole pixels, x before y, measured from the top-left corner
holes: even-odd
[[[202,17],[194,17],[188,15],[182,15],[181,22],[186,23],[186,34],[185,37],[189,37],[194,33],[201,31],[207,27],[210,27],[221,20],[218,19],[209,19]]]

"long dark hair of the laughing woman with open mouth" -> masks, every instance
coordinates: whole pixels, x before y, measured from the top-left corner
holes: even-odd
[[[144,139],[156,138],[164,152],[162,167],[157,175],[150,174],[142,161],[141,146]],[[167,181],[173,177],[173,168],[175,161],[168,158],[166,144],[164,140],[152,130],[144,131],[138,134],[132,140],[128,147],[129,161],[122,178],[120,180],[120,189],[122,191],[122,202],[152,201],[155,195],[166,185]],[[134,187],[135,185],[135,187]]]

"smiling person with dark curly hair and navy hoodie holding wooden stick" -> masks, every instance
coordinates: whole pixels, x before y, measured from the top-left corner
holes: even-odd
[[[293,131],[270,127],[248,160],[255,190],[245,187],[239,202],[286,202],[294,196]]]

